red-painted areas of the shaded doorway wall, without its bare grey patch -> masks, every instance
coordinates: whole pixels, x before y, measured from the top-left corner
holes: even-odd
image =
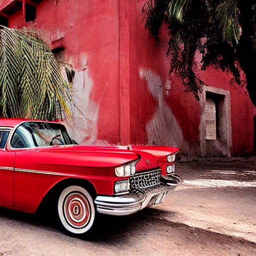
[[[162,41],[160,47],[155,46],[153,38],[148,37],[143,24],[141,23],[142,17],[140,16],[141,8],[145,0],[134,1],[136,5],[136,65],[139,68],[151,70],[159,75],[162,80],[163,86],[168,79],[168,62],[166,60],[165,52],[167,49],[167,31],[162,31]],[[252,153],[253,147],[253,111],[254,106],[249,100],[246,89],[240,86],[229,85],[231,75],[226,74],[215,69],[206,70],[203,72],[204,81],[209,86],[221,88],[230,91],[230,105],[231,105],[231,138],[232,147],[231,154],[233,155],[246,155]],[[175,76],[171,76],[170,89],[168,93],[163,89],[164,100],[167,106],[171,109],[178,126],[182,130],[179,146],[186,144],[187,149],[191,154],[199,154],[199,124],[201,107],[191,93],[185,93],[182,85]],[[157,86],[157,83],[156,83]],[[147,136],[145,127],[148,121],[152,118],[154,111],[157,108],[157,100],[152,97],[148,92],[146,81],[141,79],[137,73],[137,83],[131,86],[131,97],[139,102],[131,104],[131,126],[132,129],[131,141],[133,143],[145,143]],[[133,101],[134,102],[134,101]],[[159,123],[158,123],[159,124]],[[172,123],[170,130],[172,128]],[[168,134],[164,134],[168,136]],[[185,141],[185,142],[184,142]],[[183,143],[184,142],[184,143]]]

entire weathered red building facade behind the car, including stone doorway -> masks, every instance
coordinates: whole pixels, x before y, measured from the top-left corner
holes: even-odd
[[[245,88],[208,69],[199,102],[184,92],[168,76],[167,36],[156,47],[141,23],[144,2],[2,0],[0,23],[36,31],[73,66],[67,126],[78,142],[165,144],[198,156],[252,154],[254,106]]]

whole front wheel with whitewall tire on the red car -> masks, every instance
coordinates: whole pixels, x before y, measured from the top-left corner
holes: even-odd
[[[66,231],[79,236],[87,235],[95,220],[91,195],[81,186],[67,186],[59,195],[57,215]]]

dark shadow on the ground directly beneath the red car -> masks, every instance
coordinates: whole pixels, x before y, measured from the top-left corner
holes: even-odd
[[[153,208],[145,208],[127,216],[98,214],[95,232],[86,240],[95,242],[125,242],[125,236],[138,235],[138,232],[143,234],[151,225],[157,223],[159,219],[163,219],[165,214],[170,215],[172,213]],[[43,211],[30,214],[1,207],[0,218],[14,222],[18,221],[19,223],[24,222],[24,224],[38,226],[41,229],[51,229],[53,232],[60,232],[55,216],[50,214],[44,215]],[[171,222],[170,224],[176,225]]]

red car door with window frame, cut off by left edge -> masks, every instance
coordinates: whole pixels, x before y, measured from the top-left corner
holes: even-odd
[[[13,205],[15,152],[6,151],[10,129],[0,128],[0,203]]]

